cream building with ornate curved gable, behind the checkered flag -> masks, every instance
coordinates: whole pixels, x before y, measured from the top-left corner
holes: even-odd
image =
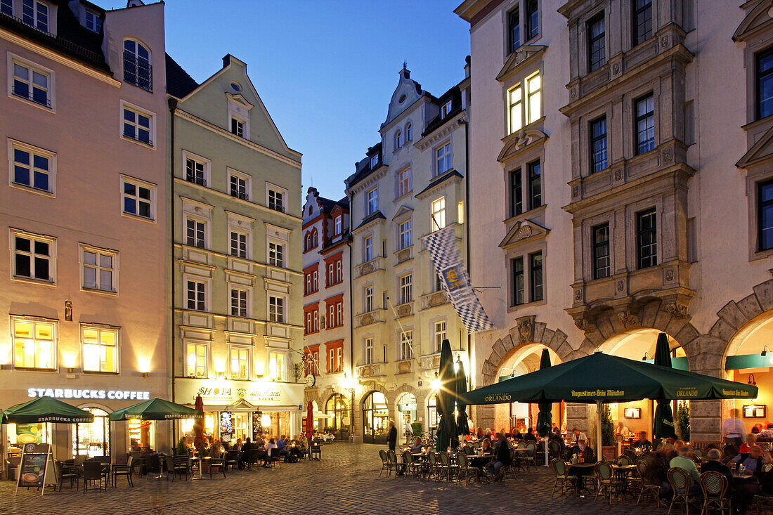
[[[380,142],[346,179],[355,441],[385,441],[389,420],[398,435],[416,422],[431,431],[441,341],[469,363],[467,333],[421,240],[451,226],[467,255],[469,102],[468,77],[434,97],[403,68]]]

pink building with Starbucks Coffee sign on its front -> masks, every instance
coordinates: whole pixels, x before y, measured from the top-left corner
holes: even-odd
[[[4,1],[0,45],[0,408],[46,395],[95,415],[4,425],[3,448],[164,448],[166,423],[107,421],[169,391],[164,5]]]

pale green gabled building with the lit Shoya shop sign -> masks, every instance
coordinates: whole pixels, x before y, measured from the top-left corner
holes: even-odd
[[[285,144],[245,63],[227,55],[200,85],[167,64],[174,401],[201,395],[206,433],[226,440],[295,435],[301,154]]]

